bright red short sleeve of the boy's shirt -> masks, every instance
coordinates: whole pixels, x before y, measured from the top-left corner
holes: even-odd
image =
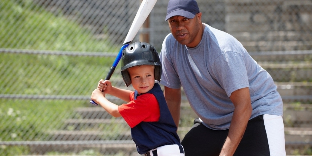
[[[134,92],[131,92],[130,100],[127,104],[119,105],[118,110],[131,128],[142,121],[156,122],[159,120],[159,104],[153,94],[143,94],[134,100]]]

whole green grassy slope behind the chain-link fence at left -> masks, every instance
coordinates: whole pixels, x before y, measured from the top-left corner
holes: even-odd
[[[0,48],[116,54],[120,48],[109,38],[95,39],[79,23],[61,12],[48,12],[32,0],[1,0],[0,23]],[[90,95],[113,61],[94,56],[0,53],[0,94]],[[86,100],[2,98],[0,141],[49,140],[47,130],[61,129],[74,108],[87,106],[93,105]],[[20,154],[31,154],[29,147],[0,146],[0,155]]]

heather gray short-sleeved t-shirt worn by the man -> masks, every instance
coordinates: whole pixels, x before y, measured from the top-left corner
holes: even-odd
[[[169,88],[183,87],[192,109],[211,129],[230,127],[233,91],[249,87],[251,118],[283,115],[283,103],[270,74],[251,58],[234,37],[209,25],[194,48],[181,45],[172,34],[163,41],[160,83]]]

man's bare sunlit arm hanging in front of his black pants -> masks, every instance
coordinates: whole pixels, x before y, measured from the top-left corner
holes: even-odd
[[[247,123],[251,116],[251,100],[249,88],[235,90],[230,99],[235,106],[229,134],[222,147],[220,156],[232,156],[241,142]]]

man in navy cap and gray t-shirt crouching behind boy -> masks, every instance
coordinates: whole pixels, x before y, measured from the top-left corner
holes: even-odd
[[[178,126],[181,87],[198,115],[185,156],[285,155],[283,103],[272,77],[234,37],[201,22],[195,0],[170,0],[161,84]]]

